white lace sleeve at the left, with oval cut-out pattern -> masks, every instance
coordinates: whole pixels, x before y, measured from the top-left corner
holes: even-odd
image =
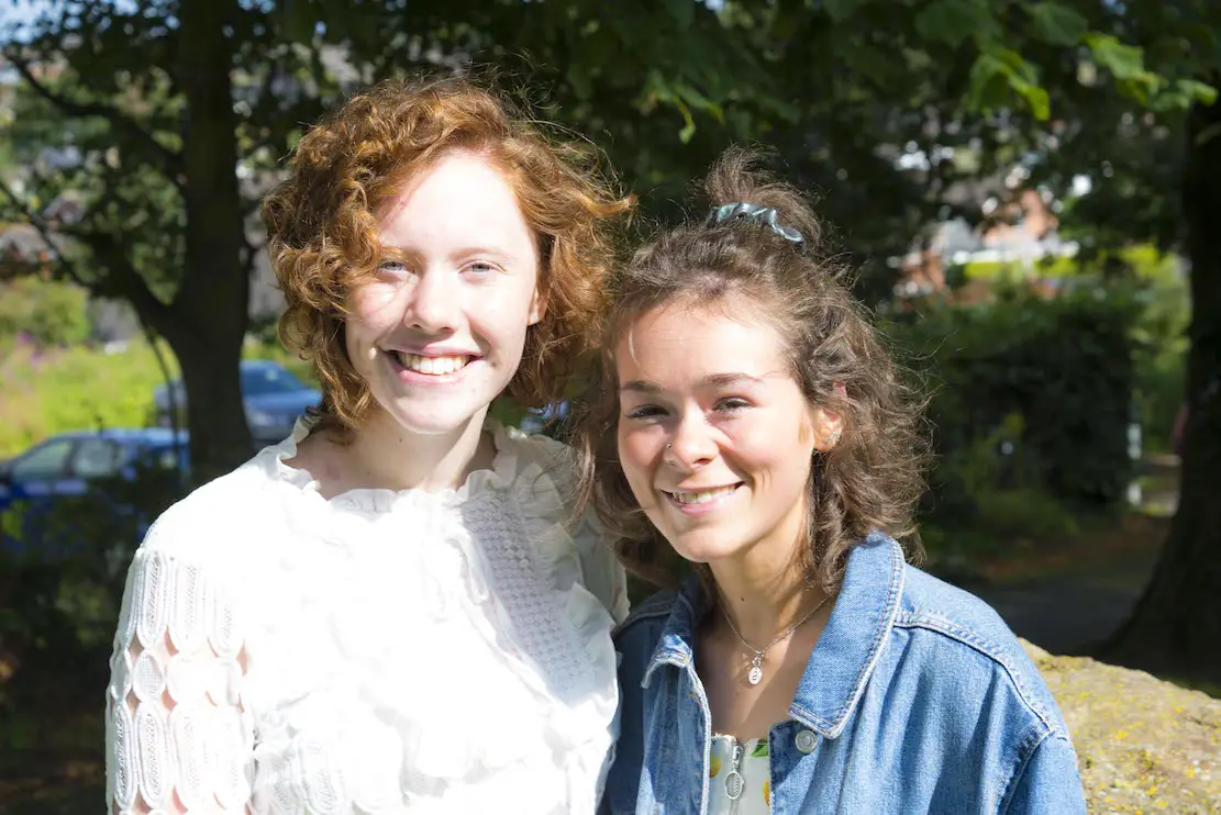
[[[198,564],[140,549],[106,692],[111,813],[244,813],[253,728],[238,615]]]

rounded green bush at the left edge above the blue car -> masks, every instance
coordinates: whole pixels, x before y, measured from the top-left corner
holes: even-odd
[[[72,345],[89,338],[89,293],[72,283],[18,277],[0,283],[0,339],[20,336],[38,345]]]

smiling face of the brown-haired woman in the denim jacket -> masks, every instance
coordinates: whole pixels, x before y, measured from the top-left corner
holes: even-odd
[[[834,418],[810,406],[772,327],[722,311],[672,304],[624,332],[619,460],[683,558],[784,558],[805,528],[817,431]]]

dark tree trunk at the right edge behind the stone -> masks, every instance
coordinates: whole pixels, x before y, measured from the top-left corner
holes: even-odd
[[[1221,102],[1188,116],[1183,211],[1192,326],[1178,511],[1144,597],[1103,656],[1221,681]]]

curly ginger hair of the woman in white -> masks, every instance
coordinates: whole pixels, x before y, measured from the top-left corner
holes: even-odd
[[[381,262],[379,214],[409,179],[455,150],[504,173],[537,240],[547,311],[527,331],[509,393],[527,408],[557,401],[590,344],[615,256],[612,216],[632,205],[614,192],[600,155],[548,139],[538,122],[469,79],[383,82],[302,138],[289,177],[263,204],[271,267],[288,306],[280,338],[317,372],[324,427],[354,428],[372,408],[343,326],[348,293]]]

